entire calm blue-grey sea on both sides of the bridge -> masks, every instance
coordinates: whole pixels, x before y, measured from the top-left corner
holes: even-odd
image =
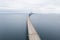
[[[27,40],[27,16],[0,13],[0,40]],[[34,14],[30,18],[42,40],[60,40],[60,15]]]

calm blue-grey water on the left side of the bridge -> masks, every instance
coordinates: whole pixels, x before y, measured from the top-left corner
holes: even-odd
[[[25,14],[0,14],[0,40],[25,40],[25,36]]]

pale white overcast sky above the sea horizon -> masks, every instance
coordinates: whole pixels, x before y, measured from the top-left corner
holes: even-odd
[[[60,0],[0,0],[0,9],[60,13]]]

